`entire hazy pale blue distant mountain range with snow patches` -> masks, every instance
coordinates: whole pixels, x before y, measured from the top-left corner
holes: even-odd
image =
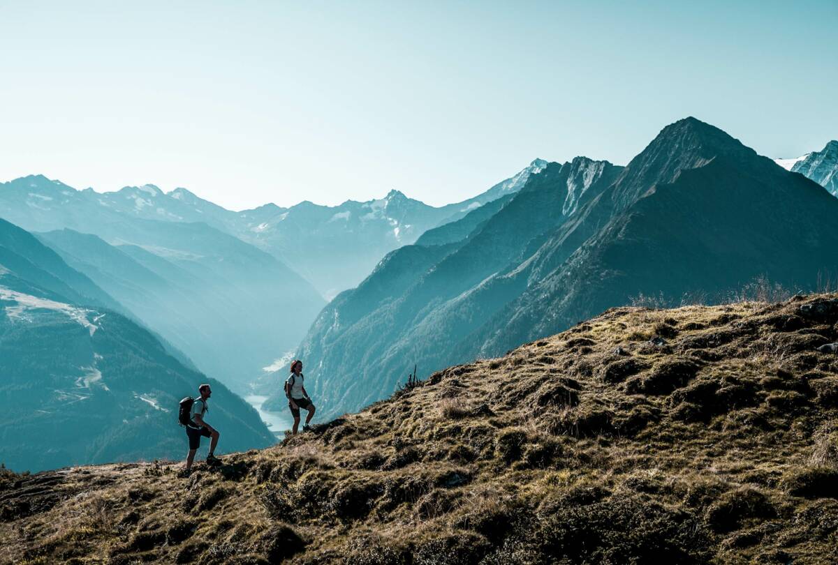
[[[366,203],[241,213],[184,188],[96,193],[37,175],[0,184],[0,217],[39,233],[182,360],[245,393],[262,367],[297,347],[321,294],[357,284],[388,251],[515,193],[545,165],[536,159],[442,208],[392,191]]]

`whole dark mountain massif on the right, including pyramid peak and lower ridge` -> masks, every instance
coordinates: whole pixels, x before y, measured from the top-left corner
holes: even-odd
[[[397,249],[329,303],[297,355],[321,409],[342,413],[414,363],[427,375],[494,357],[639,296],[717,300],[760,276],[812,288],[838,269],[835,218],[823,187],[687,118],[627,167],[550,164],[490,218],[459,220],[464,239]]]

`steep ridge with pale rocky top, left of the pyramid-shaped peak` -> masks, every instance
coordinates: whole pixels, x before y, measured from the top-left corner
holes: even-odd
[[[503,289],[458,316],[441,313],[473,293],[481,281],[520,262],[532,241],[573,218],[577,207],[596,198],[620,170],[585,157],[548,164],[488,220],[475,221],[470,215],[459,220],[476,225],[465,239],[411,252],[416,259],[412,269],[406,266],[406,276],[401,275],[401,261],[383,261],[357,290],[329,305],[303,341],[298,354],[311,360],[309,390],[327,413],[336,413],[390,393],[414,361],[427,363],[425,371],[441,367],[452,343],[521,289]],[[409,284],[394,285],[404,290],[385,299],[368,297],[366,289],[374,281],[391,278]]]

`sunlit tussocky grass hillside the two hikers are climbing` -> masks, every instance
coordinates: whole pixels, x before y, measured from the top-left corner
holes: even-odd
[[[838,295],[614,309],[220,470],[6,475],[0,561],[838,562],[836,339]]]

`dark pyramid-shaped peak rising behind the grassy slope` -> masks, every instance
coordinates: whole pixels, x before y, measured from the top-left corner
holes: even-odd
[[[760,275],[814,288],[819,275],[838,270],[836,213],[838,201],[814,183],[717,128],[678,122],[578,214],[579,223],[557,230],[529,270],[510,275],[526,275],[527,290],[460,354],[497,354],[632,296],[719,300]]]

